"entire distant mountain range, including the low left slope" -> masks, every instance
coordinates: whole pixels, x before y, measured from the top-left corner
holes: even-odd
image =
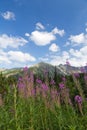
[[[49,75],[54,76],[55,71],[61,75],[69,75],[70,73],[81,73],[82,68],[84,68],[87,72],[86,66],[74,67],[74,66],[62,65],[62,64],[58,66],[53,66],[45,62],[40,62],[38,64],[29,67],[29,70],[31,70],[34,74],[38,73],[39,75],[41,75],[42,73],[45,74],[46,72],[49,72]],[[23,68],[0,69],[0,72],[7,77],[11,75],[19,74],[22,71]]]

